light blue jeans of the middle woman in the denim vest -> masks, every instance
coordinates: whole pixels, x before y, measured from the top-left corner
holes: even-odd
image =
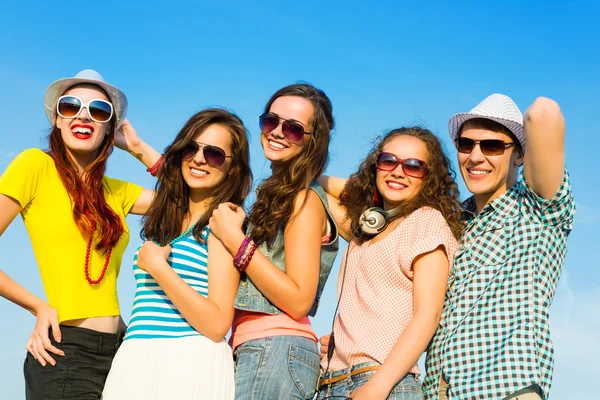
[[[239,345],[235,355],[237,400],[312,399],[319,379],[317,342],[273,336]]]

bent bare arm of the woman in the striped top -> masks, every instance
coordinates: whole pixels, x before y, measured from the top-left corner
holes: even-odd
[[[214,342],[223,340],[233,321],[233,303],[240,274],[221,241],[208,237],[208,298],[196,292],[166,261],[170,246],[146,242],[138,256],[138,266],[158,282],[175,307],[198,332]]]

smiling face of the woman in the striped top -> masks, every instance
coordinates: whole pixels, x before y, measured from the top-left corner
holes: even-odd
[[[232,158],[225,158],[219,167],[206,162],[202,149],[209,146],[221,148],[225,155],[231,156],[232,138],[229,130],[221,124],[209,125],[196,139],[200,148],[188,160],[181,161],[181,174],[190,188],[191,196],[206,198],[225,180],[231,169]]]

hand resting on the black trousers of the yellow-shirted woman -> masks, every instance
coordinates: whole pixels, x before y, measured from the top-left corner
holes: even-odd
[[[60,327],[58,326],[58,311],[50,307],[47,303],[43,303],[35,310],[35,317],[35,328],[25,348],[43,367],[47,363],[56,365],[56,361],[48,352],[58,356],[65,355],[62,350],[52,345],[49,336],[49,330],[51,329],[54,340],[58,343],[62,340]]]

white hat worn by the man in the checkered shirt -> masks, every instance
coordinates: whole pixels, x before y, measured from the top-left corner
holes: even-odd
[[[521,148],[525,151],[523,114],[521,114],[519,107],[517,107],[510,97],[494,93],[486,97],[468,113],[454,114],[448,122],[448,130],[450,131],[452,140],[458,138],[458,132],[462,124],[473,118],[489,119],[504,125],[516,136],[519,144],[521,144]]]

